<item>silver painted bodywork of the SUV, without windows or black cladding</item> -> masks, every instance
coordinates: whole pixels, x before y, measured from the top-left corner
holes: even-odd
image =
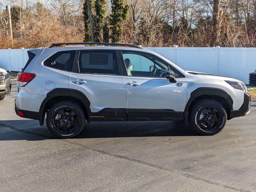
[[[125,77],[124,80],[123,76],[75,74],[49,68],[43,65],[44,60],[52,56],[52,54],[63,50],[134,50],[146,52],[162,58],[184,74],[185,78],[177,79],[178,82],[182,82],[183,85],[182,87],[176,87],[176,84],[175,86],[174,84],[164,85],[166,82],[168,82],[168,80],[164,79],[157,81],[150,80],[151,78]],[[33,62],[35,63],[33,64]],[[105,107],[125,108],[127,106],[129,108],[171,108],[176,111],[183,111],[187,100],[190,98],[191,92],[200,87],[219,88],[228,92],[228,94],[231,94],[232,99],[234,100],[234,110],[238,110],[244,101],[243,92],[241,90],[234,91],[234,88],[224,81],[229,80],[230,78],[220,78],[219,76],[208,77],[206,75],[190,74],[166,58],[163,58],[153,51],[146,49],[108,46],[67,46],[63,48],[43,48],[38,52],[31,64],[26,68],[25,72],[35,73],[36,77],[24,87],[25,89],[20,89],[16,99],[16,104],[17,106],[20,106],[20,109],[29,109],[36,112],[39,111],[42,100],[50,91],[44,87],[44,84],[47,81],[54,82],[55,88],[74,88],[84,92],[92,102],[92,112],[97,112]],[[72,81],[77,79],[84,79],[86,84],[83,84],[82,86],[73,84]],[[140,84],[143,86],[140,85],[138,87],[129,87],[126,91],[126,83],[134,80],[140,82]],[[148,84],[149,82],[153,82],[153,84]],[[159,82],[161,82],[161,86],[158,86]],[[153,87],[154,84],[158,87]],[[149,90],[146,90],[146,88]],[[166,88],[166,90],[164,88]],[[170,88],[171,90],[167,90]],[[138,91],[134,92],[135,90]],[[148,94],[145,94],[146,92]],[[128,98],[127,101],[126,93]],[[34,96],[30,94],[34,94]],[[156,96],[158,94],[159,97]],[[142,97],[142,95],[145,97]],[[33,106],[30,105],[31,102],[29,102],[28,98],[33,98]],[[168,98],[170,98],[170,100],[168,100]]]

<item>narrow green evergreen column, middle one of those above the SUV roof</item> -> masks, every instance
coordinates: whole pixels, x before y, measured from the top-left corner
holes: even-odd
[[[94,39],[103,42],[104,17],[106,14],[106,0],[95,0],[94,3]]]

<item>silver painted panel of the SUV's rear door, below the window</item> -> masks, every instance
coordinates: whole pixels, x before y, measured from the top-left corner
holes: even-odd
[[[78,79],[86,83],[80,85],[74,83]],[[123,76],[72,73],[70,88],[79,90],[88,97],[91,112],[98,112],[103,108],[126,108]]]

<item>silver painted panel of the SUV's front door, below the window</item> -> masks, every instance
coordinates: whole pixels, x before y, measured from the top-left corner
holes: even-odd
[[[185,78],[177,78],[177,83],[171,83],[166,78],[124,77],[127,91],[127,108],[141,109],[172,109],[182,112],[187,101]],[[140,85],[132,86],[129,83]]]

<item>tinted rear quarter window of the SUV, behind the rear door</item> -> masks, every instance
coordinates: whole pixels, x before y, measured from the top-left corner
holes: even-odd
[[[44,66],[72,71],[76,51],[60,51],[44,61]]]

